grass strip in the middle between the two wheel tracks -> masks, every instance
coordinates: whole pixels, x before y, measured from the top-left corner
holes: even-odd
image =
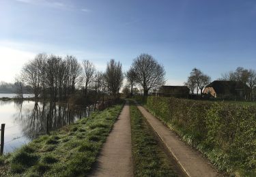
[[[130,116],[134,176],[177,176],[169,157],[134,103],[130,106]]]

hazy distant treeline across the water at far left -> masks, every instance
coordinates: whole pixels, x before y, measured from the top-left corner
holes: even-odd
[[[17,93],[18,85],[16,83],[0,82],[0,93]],[[33,93],[30,86],[23,88],[23,93]]]

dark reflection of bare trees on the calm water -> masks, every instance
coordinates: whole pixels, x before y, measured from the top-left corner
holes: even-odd
[[[16,101],[15,106],[20,110],[14,114],[15,121],[29,140],[64,125],[70,125],[79,118],[89,116],[89,111],[93,110],[88,107],[60,105],[54,102],[35,102],[33,108],[23,108],[23,102]]]

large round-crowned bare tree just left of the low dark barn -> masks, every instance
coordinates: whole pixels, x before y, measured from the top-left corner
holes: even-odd
[[[141,54],[134,59],[132,68],[136,74],[137,83],[143,88],[144,95],[165,84],[165,68],[150,54]]]

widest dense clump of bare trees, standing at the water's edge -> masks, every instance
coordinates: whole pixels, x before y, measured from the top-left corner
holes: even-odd
[[[24,65],[18,79],[31,86],[35,99],[56,101],[74,94],[76,85],[81,84],[81,74],[81,65],[75,57],[62,59],[41,53]]]

